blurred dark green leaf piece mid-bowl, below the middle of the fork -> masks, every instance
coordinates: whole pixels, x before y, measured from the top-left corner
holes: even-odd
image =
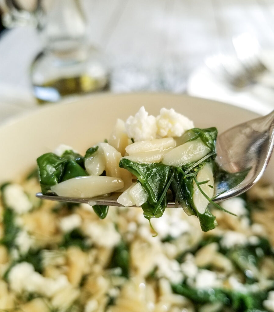
[[[129,278],[130,253],[129,247],[121,241],[114,250],[108,268],[121,268],[121,276]]]

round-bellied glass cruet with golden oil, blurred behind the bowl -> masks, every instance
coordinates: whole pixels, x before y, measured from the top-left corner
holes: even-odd
[[[25,24],[36,25],[44,46],[30,68],[38,103],[106,90],[105,62],[87,42],[87,22],[80,1],[31,0],[31,11],[20,7],[20,1],[6,0],[11,26],[22,25],[24,19]],[[20,23],[16,23],[18,17]]]

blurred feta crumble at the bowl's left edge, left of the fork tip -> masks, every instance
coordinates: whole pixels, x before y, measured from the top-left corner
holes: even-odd
[[[4,194],[7,207],[10,207],[14,212],[22,214],[32,209],[32,203],[21,185],[8,184],[4,188]]]

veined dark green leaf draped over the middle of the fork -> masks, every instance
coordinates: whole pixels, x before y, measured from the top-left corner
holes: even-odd
[[[119,166],[133,173],[148,193],[148,200],[142,205],[144,216],[161,217],[167,205],[166,192],[174,176],[171,167],[162,163],[136,163],[126,158],[120,160]]]

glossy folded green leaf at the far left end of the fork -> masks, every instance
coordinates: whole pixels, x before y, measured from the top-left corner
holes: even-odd
[[[65,151],[62,157],[46,153],[37,158],[42,193],[51,193],[51,186],[62,181],[86,176],[83,157],[73,151]]]

